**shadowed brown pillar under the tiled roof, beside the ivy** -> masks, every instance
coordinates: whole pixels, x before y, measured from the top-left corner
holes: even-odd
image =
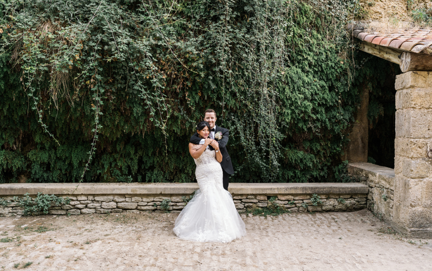
[[[369,106],[369,88],[365,85],[362,88],[360,107],[354,115],[356,123],[353,130],[349,133],[349,143],[346,148],[346,158],[350,163],[368,161],[368,106]]]

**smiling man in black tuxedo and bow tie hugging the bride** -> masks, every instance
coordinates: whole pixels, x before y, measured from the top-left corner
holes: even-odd
[[[210,138],[215,139],[218,135],[218,132],[222,133],[221,139],[215,139],[219,144],[219,150],[222,154],[222,162],[220,162],[220,165],[222,167],[223,172],[223,188],[228,191],[228,176],[231,174],[234,174],[234,169],[232,168],[231,163],[231,157],[229,157],[228,151],[226,150],[226,144],[228,144],[228,136],[229,136],[229,130],[219,127],[216,125],[216,112],[213,109],[207,109],[204,112],[204,121],[208,122],[210,124]],[[204,139],[201,139],[198,137],[198,134],[195,132],[193,136],[191,136],[190,142],[193,144],[199,144],[192,147],[193,150],[197,150],[201,147],[202,144],[204,144]],[[212,146],[210,146],[210,150],[214,150]]]

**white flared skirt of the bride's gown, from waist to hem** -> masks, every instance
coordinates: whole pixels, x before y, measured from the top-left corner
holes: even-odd
[[[200,189],[175,220],[174,233],[178,238],[229,243],[246,235],[245,223],[235,208],[232,195],[223,189],[222,168],[220,172],[214,171],[212,167],[197,168]]]

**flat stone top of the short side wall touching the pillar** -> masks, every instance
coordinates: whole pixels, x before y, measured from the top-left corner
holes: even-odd
[[[394,169],[382,167],[371,163],[349,163],[348,172],[353,175],[368,176],[371,182],[388,189],[394,190]]]

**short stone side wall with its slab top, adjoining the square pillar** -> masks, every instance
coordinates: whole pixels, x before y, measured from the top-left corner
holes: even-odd
[[[348,173],[369,186],[367,208],[387,223],[393,220],[394,169],[370,163],[350,163]]]

